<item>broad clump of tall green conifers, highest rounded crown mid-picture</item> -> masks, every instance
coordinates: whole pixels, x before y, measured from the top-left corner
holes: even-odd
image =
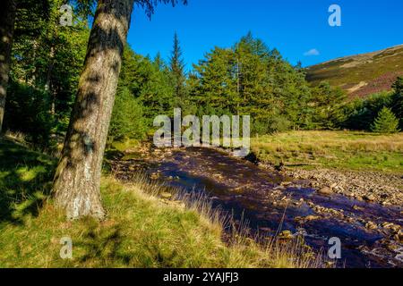
[[[311,93],[304,73],[249,33],[232,48],[215,47],[194,66],[190,100],[229,114],[250,114],[254,132],[304,128]]]

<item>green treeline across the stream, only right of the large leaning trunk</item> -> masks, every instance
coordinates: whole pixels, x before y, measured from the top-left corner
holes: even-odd
[[[352,101],[327,82],[311,87],[300,64],[291,65],[277,49],[251,33],[230,48],[215,47],[187,74],[181,55],[177,36],[167,63],[160,55],[150,59],[126,46],[109,132],[112,139],[127,134],[143,137],[155,116],[172,115],[175,107],[198,116],[250,114],[253,134],[338,129],[395,132],[399,125],[403,127],[402,79],[393,86],[394,92]],[[383,108],[389,114],[378,118]],[[374,128],[377,118],[386,121],[383,130]]]

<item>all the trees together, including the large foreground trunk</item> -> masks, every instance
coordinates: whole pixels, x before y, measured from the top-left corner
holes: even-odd
[[[66,3],[74,13],[64,27]],[[177,37],[167,62],[136,55],[126,45],[133,5],[150,16],[156,4],[187,1],[4,0],[0,131],[63,147],[52,194],[67,218],[105,219],[99,189],[107,138],[145,138],[154,117],[174,107],[183,114],[250,114],[254,134],[402,127],[402,79],[393,93],[348,102],[327,83],[311,87],[301,64],[292,66],[251,34],[230,48],[215,47],[192,71],[185,71]]]

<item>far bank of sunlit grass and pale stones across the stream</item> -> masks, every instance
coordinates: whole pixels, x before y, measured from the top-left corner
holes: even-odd
[[[403,206],[403,134],[294,131],[253,139],[260,164],[307,188]]]

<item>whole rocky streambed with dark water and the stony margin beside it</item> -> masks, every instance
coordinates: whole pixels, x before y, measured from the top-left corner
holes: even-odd
[[[342,242],[339,266],[403,267],[399,177],[277,172],[210,148],[135,148],[111,165],[123,180],[146,172],[169,187],[202,193],[213,207],[238,223],[247,221],[263,236],[301,236],[325,253],[330,238],[337,237]]]

